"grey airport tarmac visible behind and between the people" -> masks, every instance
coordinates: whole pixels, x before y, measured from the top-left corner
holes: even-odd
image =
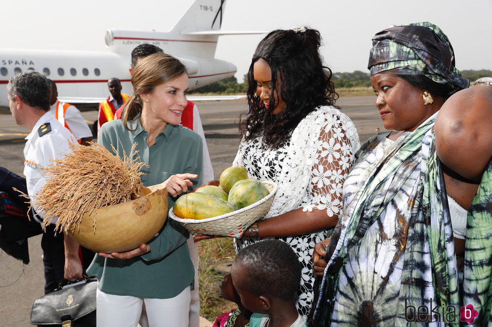
[[[355,124],[363,143],[375,134],[376,129],[384,131],[380,115],[374,106],[372,96],[343,97],[337,106]],[[240,141],[237,123],[241,113],[246,113],[245,100],[209,101],[197,103],[207,141],[215,177],[231,166]],[[84,111],[82,116],[89,126],[97,117],[96,111]],[[16,125],[6,110],[0,111],[0,166],[23,176],[25,144],[28,135],[26,128]],[[43,262],[41,236],[29,239],[31,261],[24,265],[0,250],[0,327],[31,326],[29,317],[34,299],[43,295]],[[211,326],[212,322],[203,319],[200,327]]]

